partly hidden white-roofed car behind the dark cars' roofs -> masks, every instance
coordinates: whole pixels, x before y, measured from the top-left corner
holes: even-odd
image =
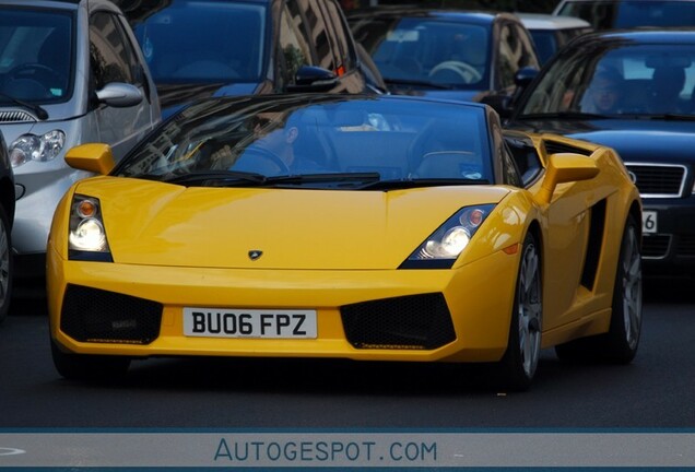
[[[575,37],[593,31],[589,22],[575,16],[523,12],[516,15],[531,33],[541,64]]]

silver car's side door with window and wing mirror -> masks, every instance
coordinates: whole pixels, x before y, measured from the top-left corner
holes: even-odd
[[[126,23],[107,11],[90,15],[90,95],[111,82],[137,86],[143,99],[128,107],[115,107],[92,101],[101,142],[111,145],[114,156],[122,157],[158,120],[145,66],[139,60]]]

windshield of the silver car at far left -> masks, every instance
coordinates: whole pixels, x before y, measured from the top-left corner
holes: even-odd
[[[70,12],[0,7],[0,104],[70,98],[73,24]]]

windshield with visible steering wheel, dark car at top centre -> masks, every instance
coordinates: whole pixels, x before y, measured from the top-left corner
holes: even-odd
[[[488,32],[484,26],[426,17],[360,20],[355,37],[387,82],[478,88],[487,80]]]

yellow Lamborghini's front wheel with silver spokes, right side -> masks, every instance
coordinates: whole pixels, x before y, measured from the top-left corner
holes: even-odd
[[[528,233],[521,248],[507,351],[499,363],[503,386],[527,390],[541,356],[543,290],[541,257],[535,237]]]

